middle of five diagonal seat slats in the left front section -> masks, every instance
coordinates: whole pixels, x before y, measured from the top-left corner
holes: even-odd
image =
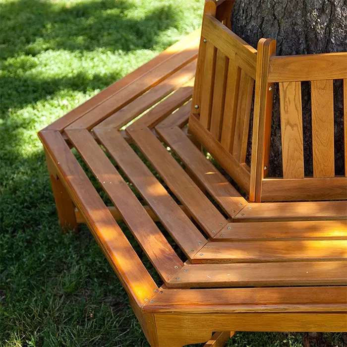
[[[205,237],[118,132],[100,129],[95,133],[175,242],[190,258],[194,254],[191,250],[197,252],[206,243]],[[136,218],[139,219],[138,216]]]

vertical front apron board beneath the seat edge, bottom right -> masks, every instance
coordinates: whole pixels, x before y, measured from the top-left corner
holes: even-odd
[[[201,290],[201,289],[200,289]],[[346,332],[346,312],[159,313],[159,343],[180,347],[206,341],[213,331]]]

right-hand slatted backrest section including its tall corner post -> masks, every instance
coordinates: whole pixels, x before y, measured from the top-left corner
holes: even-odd
[[[334,166],[333,81],[344,79],[346,129],[347,53],[276,57],[275,45],[273,40],[268,42],[268,47],[272,48],[258,57],[261,61],[257,66],[259,80],[256,82],[252,139],[252,153],[255,150],[257,156],[252,156],[255,179],[251,198],[255,201],[346,199],[347,170],[345,176],[336,176]],[[264,51],[263,48],[264,41],[261,41],[258,51]],[[313,176],[304,174],[302,81],[309,81],[311,89],[312,147],[305,146],[305,150],[312,151]],[[273,98],[270,89],[274,83],[279,84],[280,94],[283,177],[267,178]],[[346,130],[344,147],[346,158]],[[345,159],[345,168],[346,165]]]

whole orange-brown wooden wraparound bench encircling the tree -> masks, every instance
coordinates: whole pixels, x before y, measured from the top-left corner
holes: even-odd
[[[276,57],[270,39],[255,50],[231,32],[231,7],[207,0],[201,33],[39,133],[61,227],[88,225],[153,347],[212,332],[206,346],[231,331],[347,330],[347,170],[335,175],[333,110],[333,80],[344,79],[346,160],[347,53]],[[313,177],[303,168],[301,81],[311,81]],[[274,83],[282,178],[267,177]]]

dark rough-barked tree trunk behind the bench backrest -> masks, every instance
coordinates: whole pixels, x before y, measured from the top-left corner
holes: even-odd
[[[253,47],[260,38],[277,40],[277,55],[347,51],[347,0],[235,0],[232,30]],[[305,174],[312,174],[311,100],[302,83]],[[343,85],[334,84],[335,172],[344,174]],[[281,121],[275,85],[270,176],[282,176]],[[249,158],[248,158],[249,159]]]

